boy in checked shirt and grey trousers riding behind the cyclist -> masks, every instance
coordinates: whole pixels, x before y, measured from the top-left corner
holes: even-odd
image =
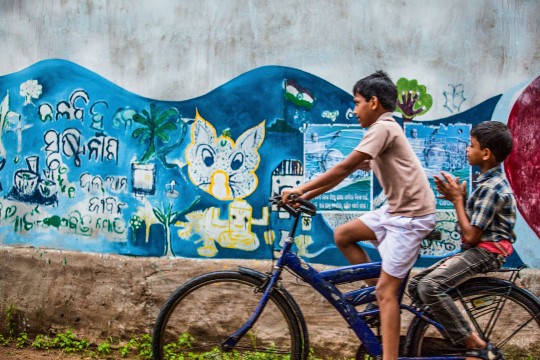
[[[439,197],[454,204],[463,251],[420,272],[409,284],[411,296],[429,306],[446,336],[454,344],[464,343],[471,358],[502,359],[502,354],[472,331],[447,290],[479,273],[499,269],[513,251],[516,204],[500,166],[511,151],[512,135],[506,125],[482,122],[472,128],[467,147],[469,164],[481,171],[471,196],[467,199],[465,181],[460,184],[459,178],[447,173],[434,176]]]

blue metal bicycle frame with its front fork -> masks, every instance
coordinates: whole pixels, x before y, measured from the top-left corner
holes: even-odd
[[[287,240],[281,251],[282,255],[278,258],[272,276],[269,277],[259,304],[255,311],[248,319],[248,321],[232,334],[222,345],[223,349],[231,350],[236,343],[244,336],[253,324],[257,321],[262,313],[266,303],[270,298],[270,293],[276,286],[284,267],[289,268],[293,273],[298,275],[303,281],[310,284],[316,289],[322,296],[324,296],[343,318],[347,321],[351,329],[356,333],[358,339],[362,342],[362,345],[366,348],[367,352],[371,356],[382,355],[382,346],[377,339],[371,328],[367,325],[364,318],[370,315],[379,313],[379,310],[358,312],[356,306],[367,304],[376,301],[375,286],[365,287],[358,290],[354,290],[347,293],[342,293],[335,285],[355,282],[364,279],[377,278],[381,272],[381,262],[371,262],[359,265],[350,265],[345,267],[339,267],[332,270],[317,271],[308,263],[303,261],[298,255],[291,251],[294,244],[294,236],[296,227],[298,225],[299,216],[295,216],[292,230],[289,233]],[[405,292],[405,286],[408,281],[409,274],[403,279],[400,292],[399,303],[400,308],[405,309],[415,316],[422,317],[439,330],[443,330],[443,326],[436,321],[424,316],[421,311],[416,310],[412,306],[401,304],[403,294]],[[400,357],[400,359],[424,359],[424,360],[463,360],[463,357],[456,356],[438,356],[438,357]]]

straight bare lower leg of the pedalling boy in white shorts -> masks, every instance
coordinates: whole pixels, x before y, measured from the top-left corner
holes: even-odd
[[[377,283],[377,302],[381,309],[383,360],[396,360],[399,355],[400,312],[398,292],[402,279],[381,271]]]

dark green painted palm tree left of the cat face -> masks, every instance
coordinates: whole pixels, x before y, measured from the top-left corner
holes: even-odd
[[[168,132],[177,129],[178,110],[169,108],[162,111],[156,104],[150,104],[150,112],[143,110],[141,113],[133,115],[133,121],[142,126],[132,133],[133,138],[139,138],[141,144],[148,144],[144,152],[141,163],[156,156],[156,139],[167,143],[171,139]]]

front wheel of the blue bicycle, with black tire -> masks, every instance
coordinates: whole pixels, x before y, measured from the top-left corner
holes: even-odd
[[[188,353],[221,359],[221,344],[252,315],[263,284],[261,277],[239,271],[218,271],[198,276],[179,287],[157,317],[152,340],[154,360]],[[236,354],[238,359],[243,359],[263,352],[268,359],[305,360],[309,353],[306,331],[294,300],[285,290],[276,289],[253,328],[228,358],[234,359]],[[189,346],[178,341],[182,334],[189,334],[183,337]]]

